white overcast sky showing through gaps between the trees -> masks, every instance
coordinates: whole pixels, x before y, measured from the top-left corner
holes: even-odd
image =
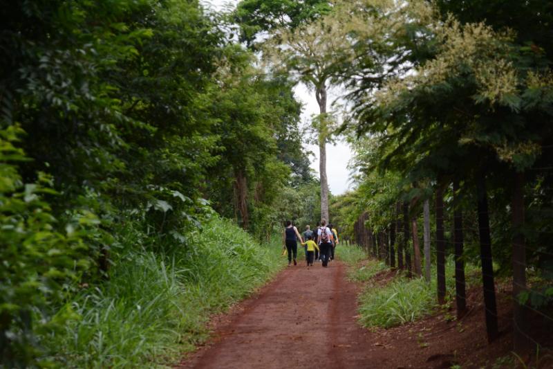
[[[238,0],[201,0],[205,6],[224,10],[236,6]],[[303,102],[303,113],[301,114],[304,124],[308,124],[312,114],[319,114],[319,105],[315,99],[315,93],[308,91],[303,85],[295,89],[297,98]],[[332,92],[332,91],[331,91]],[[329,102],[330,103],[330,102]],[[330,107],[329,107],[330,108]],[[317,145],[306,145],[306,149],[315,154],[311,157],[311,168],[319,174],[319,147]],[[352,156],[350,147],[343,141],[337,145],[326,145],[326,174],[328,176],[328,187],[334,195],[340,195],[348,190],[349,171],[348,162]]]

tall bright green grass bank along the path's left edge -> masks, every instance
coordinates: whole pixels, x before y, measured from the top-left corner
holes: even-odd
[[[169,365],[207,338],[210,314],[283,266],[280,251],[217,217],[167,255],[129,247],[108,281],[67,305],[78,318],[51,337],[55,359],[79,368]]]

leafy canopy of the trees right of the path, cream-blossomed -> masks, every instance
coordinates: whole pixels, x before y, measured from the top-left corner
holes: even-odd
[[[551,253],[545,224],[551,224],[553,79],[552,42],[543,24],[551,23],[551,5],[539,0],[421,4],[404,7],[413,8],[408,21],[401,10],[384,17],[402,21],[382,39],[368,30],[355,35],[370,52],[358,54],[358,65],[368,66],[355,69],[359,78],[346,79],[353,87],[353,118],[343,129],[354,142],[357,170],[357,189],[349,201],[339,202],[349,210],[344,214],[355,215],[348,224],[366,212],[371,231],[387,231],[398,218],[393,204],[403,201],[410,201],[409,216],[421,224],[421,200],[431,199],[439,187],[449,228],[451,181],[457,180],[465,260],[478,260],[474,192],[476,179],[484,179],[499,272],[512,271],[508,245],[518,231],[525,235],[527,264],[545,271]],[[389,65],[388,53],[397,64]],[[402,69],[406,65],[409,73]],[[512,226],[517,172],[525,172],[527,182],[523,230]],[[536,288],[532,295],[543,294]],[[534,298],[538,305],[546,301]]]

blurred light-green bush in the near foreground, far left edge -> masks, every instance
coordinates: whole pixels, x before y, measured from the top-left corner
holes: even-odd
[[[98,220],[91,213],[75,214],[63,231],[47,199],[57,197],[44,173],[35,183],[18,174],[28,160],[13,143],[21,129],[0,131],[0,353],[2,365],[46,365],[39,360],[37,335],[63,327],[71,309],[56,313],[91,260],[86,244],[89,228]],[[62,228],[63,229],[63,228]]]

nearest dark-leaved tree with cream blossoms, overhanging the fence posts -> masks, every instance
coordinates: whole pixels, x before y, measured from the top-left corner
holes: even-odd
[[[516,45],[513,32],[499,32],[483,23],[461,24],[453,17],[435,21],[431,32],[435,56],[413,73],[388,80],[359,102],[357,114],[364,118],[362,130],[384,136],[383,163],[413,178],[435,173],[437,208],[442,201],[439,189],[451,180],[456,190],[463,190],[460,181],[465,190],[469,185],[476,188],[487,334],[493,341],[498,327],[487,178],[512,176],[506,186],[516,199],[514,226],[520,226],[516,222],[521,222],[524,210],[521,176],[541,155],[543,138],[552,134],[545,124],[551,119],[552,71],[544,62],[545,53],[537,46]],[[462,243],[456,242],[458,246],[461,272]],[[518,237],[513,250],[516,296],[525,289],[524,270],[517,274],[525,266],[523,249],[523,238]],[[456,278],[458,288],[464,289],[464,274]],[[444,276],[439,276],[438,286],[440,279],[444,287]]]

